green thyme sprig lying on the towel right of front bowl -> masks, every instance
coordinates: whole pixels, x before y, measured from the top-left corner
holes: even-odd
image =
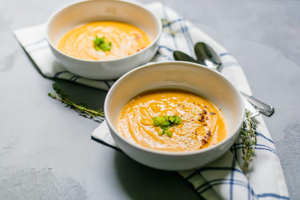
[[[251,161],[251,158],[254,154],[254,147],[256,145],[256,128],[258,125],[254,122],[252,122],[250,115],[251,112],[248,109],[245,109],[245,114],[247,121],[243,122],[242,128],[240,130],[240,135],[243,140],[243,157],[242,159],[244,160],[244,167],[243,167],[243,172],[245,173],[247,170],[247,167],[249,166],[249,163]],[[249,130],[247,130],[247,127]]]

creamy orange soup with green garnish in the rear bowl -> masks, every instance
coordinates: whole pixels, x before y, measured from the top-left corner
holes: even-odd
[[[99,43],[94,41],[96,36]],[[105,48],[102,48],[100,42]],[[101,21],[69,31],[61,38],[57,49],[84,60],[111,60],[139,52],[150,43],[148,35],[133,25]]]

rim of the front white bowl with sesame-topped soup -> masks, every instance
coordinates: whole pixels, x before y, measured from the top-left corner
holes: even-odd
[[[244,100],[243,100],[243,97],[241,96],[241,93],[238,90],[238,88],[226,76],[224,76],[223,74],[217,72],[216,70],[213,70],[213,69],[211,69],[209,67],[206,67],[204,65],[201,65],[201,64],[196,64],[196,63],[191,63],[191,62],[185,62],[185,61],[162,61],[162,62],[155,62],[155,63],[145,64],[143,66],[137,67],[137,68],[135,68],[135,69],[127,72],[121,78],[119,78],[113,84],[113,86],[110,88],[110,90],[108,91],[108,93],[106,95],[106,98],[105,98],[105,101],[104,101],[104,113],[107,113],[107,106],[108,106],[107,104],[108,104],[108,101],[111,98],[110,96],[112,95],[112,93],[115,90],[115,88],[118,88],[119,84],[122,83],[123,79],[125,79],[129,74],[131,74],[131,73],[133,73],[135,71],[143,70],[143,69],[145,69],[147,67],[153,67],[153,66],[161,65],[161,64],[183,64],[183,65],[189,64],[190,66],[195,67],[195,68],[196,67],[202,67],[204,70],[212,71],[213,73],[216,73],[218,76],[223,77],[227,82],[229,82],[229,84],[232,86],[232,88],[234,88],[234,90],[236,90],[238,92],[239,100],[242,102],[242,107],[243,107],[242,110],[243,110],[243,112],[241,112],[240,120],[238,122],[239,125],[237,127],[235,127],[235,129],[233,131],[233,134],[230,137],[226,137],[222,141],[218,142],[216,145],[212,145],[210,147],[206,147],[206,148],[203,148],[203,149],[198,149],[198,150],[195,150],[195,151],[172,152],[172,151],[162,151],[162,150],[147,148],[147,147],[144,147],[144,146],[141,146],[141,145],[138,145],[138,144],[136,144],[134,142],[129,141],[127,138],[125,138],[124,136],[122,136],[121,133],[119,133],[118,130],[116,130],[114,128],[114,126],[111,124],[110,120],[107,120],[108,118],[105,118],[105,120],[107,122],[107,125],[109,126],[110,129],[113,130],[113,132],[115,133],[115,135],[117,137],[119,137],[125,143],[127,143],[127,144],[129,144],[129,145],[131,145],[131,146],[133,146],[135,148],[138,148],[138,149],[140,149],[142,151],[147,151],[149,153],[155,153],[155,154],[160,154],[160,155],[182,156],[182,155],[200,154],[200,153],[204,153],[206,151],[213,150],[215,148],[218,148],[218,147],[222,146],[226,142],[229,142],[233,137],[235,137],[236,134],[238,134],[238,130],[241,128],[241,125],[242,125],[243,120],[244,120],[244,110],[245,110]],[[227,150],[228,149],[226,149],[226,151]]]

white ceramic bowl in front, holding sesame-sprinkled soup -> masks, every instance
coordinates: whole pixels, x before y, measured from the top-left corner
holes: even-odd
[[[210,100],[225,118],[226,138],[191,152],[153,150],[127,140],[117,130],[121,109],[132,97],[154,88],[181,88]],[[113,139],[129,157],[157,169],[186,170],[209,163],[230,148],[242,125],[244,102],[235,85],[217,71],[199,64],[171,61],[147,64],[122,76],[107,94],[104,113]]]

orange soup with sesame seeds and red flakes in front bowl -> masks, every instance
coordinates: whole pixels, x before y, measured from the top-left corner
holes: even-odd
[[[131,99],[119,114],[118,130],[132,142],[162,151],[194,151],[226,137],[225,120],[213,103],[177,89]]]

